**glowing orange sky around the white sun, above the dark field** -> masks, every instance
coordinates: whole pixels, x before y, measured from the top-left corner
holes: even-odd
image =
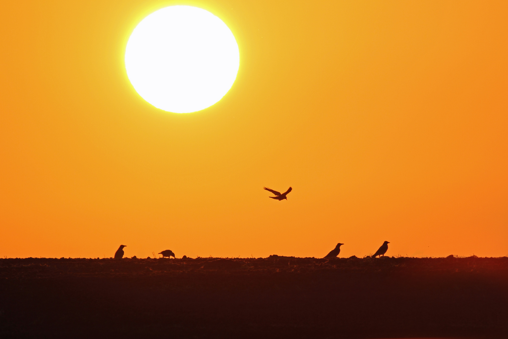
[[[197,113],[123,66],[176,4],[240,48]],[[508,255],[504,1],[11,1],[0,28],[1,256]]]

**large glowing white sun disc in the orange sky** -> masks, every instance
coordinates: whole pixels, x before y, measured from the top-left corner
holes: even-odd
[[[175,113],[200,111],[233,85],[240,53],[228,26],[192,6],[170,6],[145,17],[125,48],[125,69],[137,93]]]

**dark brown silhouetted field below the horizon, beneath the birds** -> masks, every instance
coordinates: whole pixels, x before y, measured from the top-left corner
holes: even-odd
[[[508,258],[0,259],[0,337],[508,338]]]

